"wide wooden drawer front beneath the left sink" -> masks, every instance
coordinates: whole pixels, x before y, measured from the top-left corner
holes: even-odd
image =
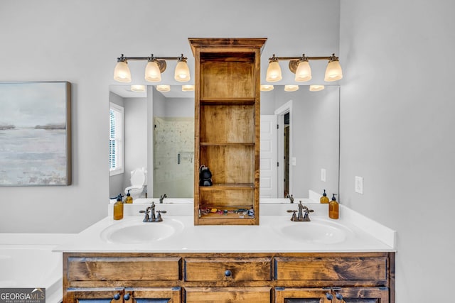
[[[178,280],[181,258],[68,258],[69,281]]]

